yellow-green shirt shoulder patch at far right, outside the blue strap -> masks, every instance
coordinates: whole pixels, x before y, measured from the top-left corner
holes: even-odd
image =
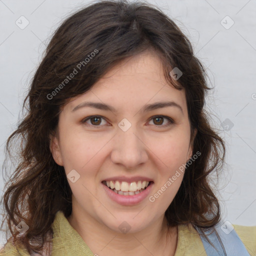
[[[256,226],[235,225],[234,230],[251,255],[256,255]]]

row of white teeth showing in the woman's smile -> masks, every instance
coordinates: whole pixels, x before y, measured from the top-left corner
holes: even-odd
[[[107,180],[106,181],[106,185],[108,187],[110,187],[111,189],[115,189],[117,191],[122,191],[127,192],[127,195],[129,194],[129,192],[136,192],[139,191],[140,189],[144,189],[145,187],[147,187],[149,184],[149,181],[132,181],[132,182],[126,182],[126,181],[114,181],[114,180]],[[120,193],[121,194],[121,193]]]

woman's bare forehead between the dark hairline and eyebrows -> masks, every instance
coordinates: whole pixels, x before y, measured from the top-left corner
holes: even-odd
[[[104,102],[117,108],[137,108],[156,101],[175,101],[186,107],[184,90],[169,85],[156,53],[145,51],[109,69],[89,91],[74,97],[69,108],[84,100]]]

